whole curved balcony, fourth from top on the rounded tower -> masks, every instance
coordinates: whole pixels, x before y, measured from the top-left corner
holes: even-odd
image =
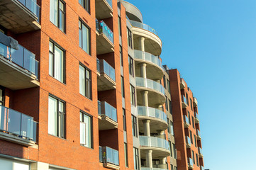
[[[167,129],[167,115],[163,111],[145,106],[137,106],[137,109],[140,131],[144,132],[143,120],[145,119],[150,120],[150,131],[152,133]]]

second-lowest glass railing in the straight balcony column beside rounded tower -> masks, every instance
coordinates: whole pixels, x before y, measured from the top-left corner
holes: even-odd
[[[101,108],[104,108],[104,111],[101,111]],[[117,122],[116,108],[106,103],[106,101],[98,101],[98,115],[106,115],[108,118]]]

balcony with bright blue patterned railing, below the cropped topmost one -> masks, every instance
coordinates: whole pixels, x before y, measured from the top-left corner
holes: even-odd
[[[114,52],[113,32],[104,21],[96,19],[96,34],[97,55]]]

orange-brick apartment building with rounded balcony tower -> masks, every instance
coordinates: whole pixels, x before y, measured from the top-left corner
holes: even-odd
[[[126,1],[0,0],[1,169],[179,169],[161,51]]]

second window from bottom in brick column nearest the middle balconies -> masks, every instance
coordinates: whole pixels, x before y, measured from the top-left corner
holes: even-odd
[[[91,99],[91,70],[79,64],[79,93]]]

